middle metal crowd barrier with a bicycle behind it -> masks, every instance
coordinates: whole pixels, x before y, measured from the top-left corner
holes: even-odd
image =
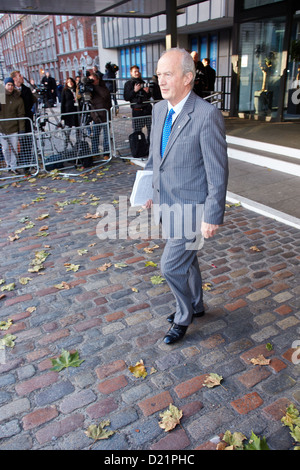
[[[94,123],[90,110],[38,117],[38,148],[46,172],[57,169],[65,176],[79,176],[111,160],[109,113],[105,109],[92,112],[104,112],[106,122]],[[65,126],[62,121],[67,116],[77,118],[78,126]],[[76,173],[68,173],[71,168]]]

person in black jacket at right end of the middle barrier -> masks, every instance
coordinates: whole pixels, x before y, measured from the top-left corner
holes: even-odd
[[[99,140],[101,127],[99,124],[106,123],[109,119],[109,113],[111,108],[111,96],[109,89],[105,86],[104,81],[99,78],[96,73],[91,73],[89,79],[93,82],[93,92],[90,100],[91,118],[94,122],[93,134],[92,134],[92,152],[97,155],[99,154]],[[93,110],[106,110],[105,111],[93,111]],[[109,134],[107,127],[103,128],[103,151],[105,154],[109,154]]]

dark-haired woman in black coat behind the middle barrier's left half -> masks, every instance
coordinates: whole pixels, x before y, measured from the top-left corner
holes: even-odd
[[[64,121],[66,126],[76,128],[79,126],[79,118],[77,114],[79,107],[76,96],[76,82],[72,77],[67,78],[65,86],[62,89],[60,110],[63,115],[62,121]],[[64,116],[65,113],[66,115]],[[65,131],[65,150],[67,149],[68,144],[72,146],[70,134],[71,130]],[[78,137],[78,132],[76,132],[76,136]]]

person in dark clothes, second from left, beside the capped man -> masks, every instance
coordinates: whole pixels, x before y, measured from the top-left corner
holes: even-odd
[[[15,70],[10,74],[14,81],[15,89],[21,94],[25,108],[25,133],[26,135],[20,138],[20,164],[28,165],[24,168],[25,174],[29,173],[30,163],[32,162],[33,150],[33,108],[37,103],[37,97],[32,93],[30,87],[24,85],[24,77],[19,70]]]

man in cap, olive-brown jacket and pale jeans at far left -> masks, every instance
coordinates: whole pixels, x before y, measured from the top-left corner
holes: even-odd
[[[0,143],[4,155],[6,167],[9,172],[18,174],[18,140],[19,134],[25,132],[25,107],[21,94],[15,89],[14,81],[11,77],[5,78],[5,104],[1,104],[0,109]],[[1,119],[11,119],[2,121]]]

